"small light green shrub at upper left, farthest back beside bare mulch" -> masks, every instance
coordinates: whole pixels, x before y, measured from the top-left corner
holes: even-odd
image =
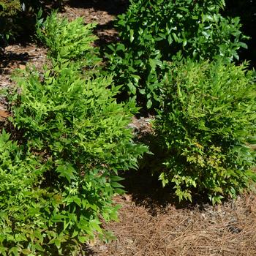
[[[93,67],[99,61],[97,48],[92,45],[97,39],[91,31],[95,26],[96,23],[85,26],[83,18],[69,22],[53,12],[45,21],[38,20],[37,37],[49,48],[48,53],[53,59],[77,62],[83,59],[81,65]]]

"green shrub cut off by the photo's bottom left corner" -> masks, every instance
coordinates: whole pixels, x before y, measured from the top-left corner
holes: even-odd
[[[1,255],[31,255],[31,252],[43,251],[43,241],[50,241],[48,238],[54,233],[49,228],[50,210],[53,211],[59,202],[57,193],[40,187],[45,170],[47,168],[40,163],[39,157],[29,154],[12,142],[10,135],[1,132]]]

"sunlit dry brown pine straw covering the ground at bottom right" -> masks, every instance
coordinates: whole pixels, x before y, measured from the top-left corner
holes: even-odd
[[[97,256],[253,256],[256,255],[256,196],[242,195],[222,206],[176,208],[152,215],[130,195],[116,197],[120,222],[105,227],[110,244],[91,247]]]

